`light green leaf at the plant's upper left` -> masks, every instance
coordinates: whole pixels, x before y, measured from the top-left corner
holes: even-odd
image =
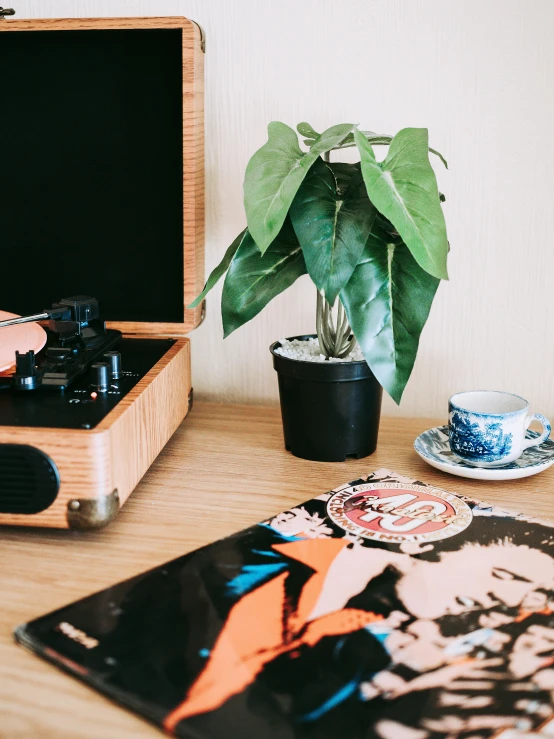
[[[292,128],[273,121],[268,141],[253,155],[244,177],[244,208],[248,230],[262,254],[276,238],[302,180],[320,154],[348,136],[353,123],[332,126],[308,152],[298,145]]]

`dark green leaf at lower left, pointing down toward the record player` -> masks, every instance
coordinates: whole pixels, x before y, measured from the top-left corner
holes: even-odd
[[[306,264],[289,219],[263,255],[247,232],[223,283],[224,336],[254,318],[303,274]]]

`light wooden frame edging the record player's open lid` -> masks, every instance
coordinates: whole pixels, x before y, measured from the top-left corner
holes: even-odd
[[[202,33],[187,18],[55,18],[6,20],[1,31],[83,31],[176,28],[183,64],[183,323],[109,321],[136,336],[186,336],[202,320],[202,306],[186,310],[204,285],[204,52]]]

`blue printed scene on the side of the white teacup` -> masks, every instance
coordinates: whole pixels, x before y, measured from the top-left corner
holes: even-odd
[[[510,454],[512,434],[505,434],[494,416],[484,416],[480,424],[472,422],[469,414],[454,411],[450,418],[450,447],[465,459],[493,462]]]

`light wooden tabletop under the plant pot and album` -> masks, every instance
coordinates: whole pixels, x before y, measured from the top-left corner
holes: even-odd
[[[0,737],[146,739],[155,727],[17,646],[15,626],[382,467],[554,518],[554,467],[524,480],[454,478],[415,437],[436,421],[384,418],[375,454],[308,462],[285,451],[279,410],[196,404],[118,518],[97,532],[0,527]]]

